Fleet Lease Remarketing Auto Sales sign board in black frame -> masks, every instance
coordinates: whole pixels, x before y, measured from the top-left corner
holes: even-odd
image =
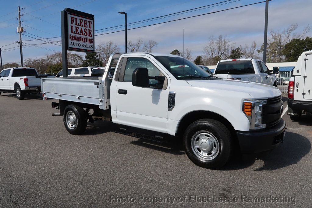
[[[67,50],[94,52],[94,16],[66,8]]]

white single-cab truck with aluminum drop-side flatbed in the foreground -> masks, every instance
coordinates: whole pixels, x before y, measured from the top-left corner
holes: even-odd
[[[103,77],[42,78],[43,99],[80,135],[87,120],[119,124],[118,133],[154,141],[183,137],[198,166],[219,168],[234,150],[261,152],[284,139],[281,92],[264,84],[223,80],[175,55],[112,54]],[[92,110],[90,110],[92,109]]]

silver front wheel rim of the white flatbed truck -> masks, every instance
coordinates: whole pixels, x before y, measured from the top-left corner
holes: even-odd
[[[209,131],[197,131],[192,137],[191,147],[193,153],[205,161],[213,160],[220,151],[219,141]]]

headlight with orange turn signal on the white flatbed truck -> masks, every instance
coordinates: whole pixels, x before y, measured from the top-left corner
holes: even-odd
[[[249,129],[262,129],[266,124],[262,124],[262,105],[266,100],[244,100],[243,111],[249,120]]]

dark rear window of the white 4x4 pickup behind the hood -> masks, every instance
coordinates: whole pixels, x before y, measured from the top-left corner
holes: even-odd
[[[219,62],[215,74],[254,74],[251,61]]]

